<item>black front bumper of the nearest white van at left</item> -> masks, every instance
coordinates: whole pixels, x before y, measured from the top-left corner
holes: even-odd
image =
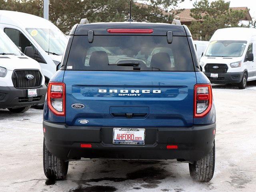
[[[37,97],[28,98],[27,89],[0,86],[0,109],[42,104],[45,100],[46,85],[37,89]]]

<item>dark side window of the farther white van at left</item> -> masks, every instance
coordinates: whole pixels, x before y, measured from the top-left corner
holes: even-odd
[[[25,47],[32,47],[35,50],[34,45],[17,29],[5,28],[4,33],[14,42],[17,47],[21,47],[22,53],[25,51]]]

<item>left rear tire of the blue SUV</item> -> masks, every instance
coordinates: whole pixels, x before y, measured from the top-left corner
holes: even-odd
[[[52,155],[45,145],[45,139],[43,144],[43,153],[45,176],[52,180],[62,180],[66,178],[68,173],[68,161],[64,161]]]

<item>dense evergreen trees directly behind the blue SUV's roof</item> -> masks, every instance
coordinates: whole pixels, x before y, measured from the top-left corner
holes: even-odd
[[[49,0],[49,20],[64,33],[82,18],[89,22],[124,22],[129,17],[129,0]],[[170,11],[184,0],[132,2],[132,19],[137,22],[171,23]],[[161,8],[161,9],[159,9]],[[0,0],[0,9],[43,16],[43,0]],[[166,11],[164,11],[166,10]]]

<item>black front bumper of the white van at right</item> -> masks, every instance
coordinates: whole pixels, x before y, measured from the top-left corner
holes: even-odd
[[[219,73],[218,78],[211,77],[211,74],[208,72],[204,72],[204,74],[208,77],[211,83],[229,84],[229,83],[240,83],[244,72],[242,71],[242,72]]]

